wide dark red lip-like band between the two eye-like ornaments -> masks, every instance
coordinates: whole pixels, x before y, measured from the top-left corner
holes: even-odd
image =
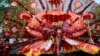
[[[58,21],[65,21],[69,19],[71,16],[69,14],[61,14],[61,15],[52,15],[52,14],[45,14],[43,18],[45,18],[48,22],[58,22]]]

